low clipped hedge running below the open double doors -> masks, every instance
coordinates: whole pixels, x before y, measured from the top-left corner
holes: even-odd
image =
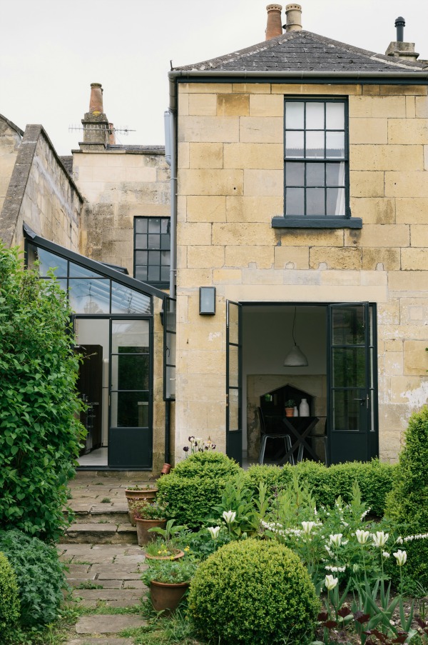
[[[287,486],[292,479],[292,472],[295,472],[299,475],[302,484],[310,486],[317,504],[332,506],[338,496],[342,496],[345,502],[350,501],[352,484],[357,481],[362,500],[370,506],[371,513],[382,517],[387,494],[392,489],[396,468],[397,466],[383,464],[378,459],[364,463],[350,461],[329,467],[316,461],[302,461],[297,466],[286,464],[284,468],[250,466],[245,472],[244,483],[254,491],[260,481],[264,481],[270,489],[275,486]]]

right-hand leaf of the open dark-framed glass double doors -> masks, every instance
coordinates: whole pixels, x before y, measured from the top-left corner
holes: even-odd
[[[329,305],[330,464],[377,455],[374,310],[368,302]]]

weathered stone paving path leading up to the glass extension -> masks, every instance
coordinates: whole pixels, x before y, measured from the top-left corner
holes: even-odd
[[[127,479],[78,476],[69,484],[73,496],[70,506],[78,514],[78,520],[89,519],[100,529],[109,523],[114,525],[114,519],[109,522],[109,513],[120,511],[121,524],[126,529],[127,504],[123,491],[134,484]],[[102,499],[111,501],[103,503]],[[73,597],[93,609],[140,604],[147,589],[141,581],[141,572],[146,569],[143,549],[136,544],[116,544],[113,534],[113,544],[99,544],[94,533],[96,531],[88,531],[88,541],[83,543],[80,541],[85,539],[82,534],[79,543],[67,542],[65,536],[58,544],[61,561],[68,565],[67,580],[73,588]],[[104,539],[109,539],[108,534]],[[118,634],[123,629],[143,624],[138,614],[81,616],[66,645],[131,645],[132,639],[120,638]]]

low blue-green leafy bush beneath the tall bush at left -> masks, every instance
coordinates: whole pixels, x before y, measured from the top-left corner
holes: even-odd
[[[54,621],[66,586],[64,566],[54,546],[12,529],[0,531],[0,551],[11,563],[19,588],[24,625]]]

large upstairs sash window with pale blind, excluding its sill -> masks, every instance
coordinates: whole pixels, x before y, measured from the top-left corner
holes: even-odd
[[[285,97],[285,218],[349,219],[348,104]]]

